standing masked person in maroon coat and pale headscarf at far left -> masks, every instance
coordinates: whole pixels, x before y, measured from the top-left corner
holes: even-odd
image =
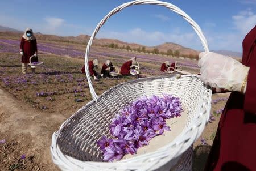
[[[27,28],[22,36],[19,53],[22,55],[22,73],[27,74],[27,64],[30,63],[30,57],[32,55],[38,55],[36,38],[30,28]],[[35,68],[31,67],[31,71],[32,73],[35,73]]]

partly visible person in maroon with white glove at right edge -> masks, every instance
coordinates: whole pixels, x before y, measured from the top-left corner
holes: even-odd
[[[243,40],[242,63],[221,54],[199,54],[200,79],[232,93],[205,170],[256,170],[256,27]]]

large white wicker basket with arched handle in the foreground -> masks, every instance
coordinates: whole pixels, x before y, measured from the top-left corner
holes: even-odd
[[[166,75],[155,78],[137,79],[110,88],[100,96],[96,95],[89,75],[88,54],[96,33],[110,16],[123,8],[138,4],[152,4],[169,8],[183,16],[195,29],[205,51],[209,52],[207,41],[199,27],[184,11],[161,1],[139,0],[124,3],[114,8],[98,23],[85,53],[85,72],[93,100],[65,121],[60,130],[52,135],[52,160],[61,170],[191,170],[192,144],[203,132],[208,122],[212,91],[207,89],[197,76],[183,75],[180,79]],[[113,163],[102,162],[97,147],[101,136],[110,137],[109,124],[117,112],[129,102],[141,96],[161,96],[162,93],[180,97],[187,109],[187,122],[182,132],[166,146],[154,152],[134,156]]]

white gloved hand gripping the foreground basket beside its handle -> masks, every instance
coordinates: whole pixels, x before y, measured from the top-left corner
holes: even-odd
[[[202,82],[229,91],[241,91],[249,67],[242,65],[236,59],[213,52],[201,52],[199,59],[201,73],[199,78]]]

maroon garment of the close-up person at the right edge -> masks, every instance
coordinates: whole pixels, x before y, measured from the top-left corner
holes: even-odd
[[[218,123],[205,170],[256,170],[256,27],[243,40],[249,66],[245,95],[232,92]]]

